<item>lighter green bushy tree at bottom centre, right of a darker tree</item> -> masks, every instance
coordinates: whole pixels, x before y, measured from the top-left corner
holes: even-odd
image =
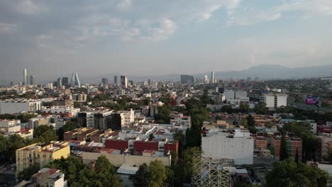
[[[167,179],[166,169],[160,160],[150,162],[149,166],[150,184],[149,186],[164,186]]]

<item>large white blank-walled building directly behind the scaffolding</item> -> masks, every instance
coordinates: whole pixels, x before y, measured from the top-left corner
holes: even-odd
[[[253,138],[239,129],[235,134],[211,130],[201,137],[201,149],[206,157],[233,159],[236,165],[253,164]]]

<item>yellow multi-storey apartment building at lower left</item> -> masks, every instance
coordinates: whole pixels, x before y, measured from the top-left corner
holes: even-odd
[[[68,142],[51,142],[50,145],[40,144],[28,145],[16,150],[16,172],[33,164],[39,164],[40,168],[52,162],[54,159],[70,156],[70,146]]]

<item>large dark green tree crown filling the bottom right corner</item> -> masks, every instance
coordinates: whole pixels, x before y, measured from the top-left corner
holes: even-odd
[[[326,171],[292,159],[275,162],[266,175],[267,187],[327,186],[329,179]]]

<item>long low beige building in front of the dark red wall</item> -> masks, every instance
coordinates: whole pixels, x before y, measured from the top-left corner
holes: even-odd
[[[95,162],[98,157],[104,155],[109,162],[116,167],[126,164],[129,166],[140,166],[143,163],[150,164],[155,160],[160,160],[165,166],[171,165],[171,155],[165,155],[164,152],[153,150],[144,150],[140,155],[121,154],[120,150],[104,149],[96,152],[82,152],[82,160],[84,164]]]

